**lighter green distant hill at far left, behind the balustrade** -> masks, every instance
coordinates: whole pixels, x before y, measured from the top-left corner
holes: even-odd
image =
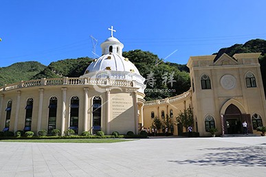
[[[45,69],[40,62],[16,62],[9,67],[0,67],[0,86],[30,80],[33,75]]]

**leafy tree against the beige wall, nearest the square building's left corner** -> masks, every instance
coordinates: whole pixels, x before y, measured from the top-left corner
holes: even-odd
[[[194,125],[192,108],[189,106],[184,110],[184,112],[180,111],[179,115],[175,119],[177,120],[177,123],[181,123],[186,128],[186,130],[188,130],[189,126]]]

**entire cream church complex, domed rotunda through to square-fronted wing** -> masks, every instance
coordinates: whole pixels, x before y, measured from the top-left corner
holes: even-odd
[[[68,129],[76,134],[89,131],[105,134],[118,131],[139,133],[150,128],[153,119],[168,115],[172,121],[189,106],[195,132],[210,136],[242,133],[247,121],[249,133],[266,126],[265,94],[261,78],[260,54],[233,57],[193,56],[188,60],[191,88],[175,97],[145,102],[145,78],[130,58],[122,56],[124,45],[113,37],[100,47],[102,56],[94,59],[79,78],[42,78],[21,81],[0,88],[0,128],[3,131]],[[186,132],[174,125],[173,134]]]

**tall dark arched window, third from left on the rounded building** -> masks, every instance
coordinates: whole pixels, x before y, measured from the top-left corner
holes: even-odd
[[[57,97],[50,98],[48,108],[49,108],[49,117],[48,117],[47,134],[52,134],[52,130],[56,129]]]

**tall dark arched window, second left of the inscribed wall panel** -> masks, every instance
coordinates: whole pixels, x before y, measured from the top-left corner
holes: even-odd
[[[78,97],[76,96],[71,97],[69,129],[74,130],[76,134],[78,134],[78,108],[79,108]]]

